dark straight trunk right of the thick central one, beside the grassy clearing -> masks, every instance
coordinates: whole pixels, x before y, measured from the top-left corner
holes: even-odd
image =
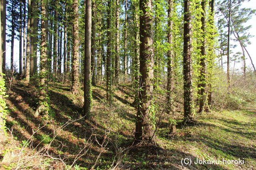
[[[183,77],[184,77],[184,119],[192,119],[192,57],[191,57],[191,12],[190,0],[184,0],[184,46],[183,46]]]

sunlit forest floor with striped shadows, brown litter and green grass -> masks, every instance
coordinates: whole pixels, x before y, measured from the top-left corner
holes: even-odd
[[[192,126],[180,123],[182,107],[171,115],[159,109],[157,145],[135,145],[132,85],[115,84],[112,90],[109,105],[104,84],[92,87],[92,119],[87,121],[81,116],[82,89],[74,96],[70,84],[50,82],[50,111],[35,118],[38,88],[14,81],[8,87],[8,142],[0,148],[0,169],[256,169],[255,107],[203,113]],[[3,161],[7,153],[8,160]]]

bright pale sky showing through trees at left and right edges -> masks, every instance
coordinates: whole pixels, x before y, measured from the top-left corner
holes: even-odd
[[[244,2],[241,6],[241,8],[252,8],[252,9],[256,9],[256,0],[250,0],[249,2]],[[250,56],[252,57],[252,62],[254,63],[254,66],[256,67],[256,15],[252,16],[252,18],[246,23],[244,24],[245,26],[248,25],[252,25],[251,29],[250,29],[250,34],[254,35],[254,37],[252,37],[250,39],[251,45],[248,45],[246,47],[246,49],[248,50]],[[10,33],[8,31],[6,31],[6,33]],[[232,42],[231,42],[232,43]],[[19,65],[19,47],[18,47],[18,40],[15,39],[15,43],[14,43],[14,64],[16,64],[17,69],[18,69],[18,65]],[[234,43],[232,43],[234,44]],[[10,43],[6,43],[6,64],[8,65],[8,67],[10,68]],[[242,52],[241,47],[239,44],[237,44],[237,47],[235,49],[231,49],[234,53],[236,52]],[[39,60],[39,59],[38,59]],[[224,58],[225,60],[225,58]],[[62,64],[63,65],[63,64]],[[230,64],[231,66],[234,65],[234,63]],[[248,55],[246,54],[246,66],[247,67],[251,67],[252,68],[252,64],[251,61],[248,57]],[[236,68],[241,68],[242,67],[242,63],[236,63]]]

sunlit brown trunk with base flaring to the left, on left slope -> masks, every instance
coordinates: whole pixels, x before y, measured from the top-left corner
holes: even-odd
[[[48,0],[42,0],[42,18],[41,18],[41,48],[40,48],[40,96],[39,96],[39,104],[34,113],[35,117],[38,117],[43,112],[48,112],[46,98],[47,93],[47,51],[48,51]]]

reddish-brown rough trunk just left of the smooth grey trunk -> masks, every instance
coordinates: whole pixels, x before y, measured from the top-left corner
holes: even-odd
[[[78,94],[79,88],[79,13],[78,0],[73,2],[74,23],[73,23],[73,50],[72,50],[72,93]]]

